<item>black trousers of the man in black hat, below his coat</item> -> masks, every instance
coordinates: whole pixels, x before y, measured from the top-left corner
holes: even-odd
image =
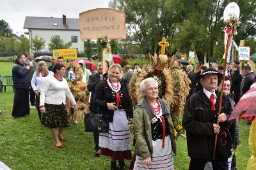
[[[207,159],[191,158],[189,170],[204,170],[205,164],[209,162]],[[228,159],[224,161],[212,160],[213,170],[228,170]]]

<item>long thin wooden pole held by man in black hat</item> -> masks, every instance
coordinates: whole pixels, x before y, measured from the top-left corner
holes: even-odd
[[[236,30],[236,29],[233,29],[232,34],[231,34],[230,36],[228,35],[228,41],[227,41],[227,45],[226,45],[226,49],[225,49],[224,73],[223,73],[223,76],[222,76],[222,83],[221,83],[222,86],[221,86],[220,105],[219,105],[218,117],[220,116],[220,111],[221,111],[221,103],[222,103],[223,89],[224,89],[224,81],[225,81],[225,73],[226,73],[225,70],[227,69],[228,47],[230,46],[231,38],[232,38],[232,36],[233,36],[235,30]],[[217,125],[219,125],[219,122],[217,122]],[[214,160],[214,158],[215,158],[217,137],[218,137],[218,134],[216,133],[216,134],[215,134],[215,141],[214,141],[213,156],[212,156],[212,159],[213,159],[213,160]]]

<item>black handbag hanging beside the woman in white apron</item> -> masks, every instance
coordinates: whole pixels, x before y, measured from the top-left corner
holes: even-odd
[[[86,132],[108,133],[109,117],[102,114],[84,113],[84,128]]]

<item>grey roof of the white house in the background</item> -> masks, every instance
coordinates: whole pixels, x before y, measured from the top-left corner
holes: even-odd
[[[80,30],[79,18],[67,18],[66,25],[63,18],[53,17],[26,17],[24,29],[61,29],[61,30]],[[57,24],[54,26],[53,24]]]

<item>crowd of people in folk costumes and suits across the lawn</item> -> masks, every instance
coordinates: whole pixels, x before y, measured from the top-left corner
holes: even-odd
[[[66,98],[72,108],[77,110],[76,101],[67,83],[74,76],[74,70],[72,67],[65,67],[63,57],[52,60],[52,66],[48,68],[44,61],[38,62],[36,66],[33,57],[33,53],[28,53],[27,59],[24,54],[19,54],[15,60],[12,116],[20,118],[28,115],[30,101],[31,105],[36,106],[40,122],[51,129],[54,146],[63,148],[61,142],[66,141],[63,129],[69,126]],[[132,160],[130,169],[174,169],[173,153],[176,154],[177,145],[171,117],[173,109],[159,98],[157,81],[154,78],[141,81],[140,91],[144,97],[133,108],[128,84],[133,74],[141,71],[138,63],[134,64],[134,70],[129,65],[124,66],[126,74],[119,64],[109,66],[108,61],[106,70],[103,70],[102,62],[92,71],[83,60],[79,61],[79,65],[83,69],[82,80],[88,84],[90,92],[90,112],[109,117],[108,132],[93,132],[95,156],[110,157],[110,169],[117,169],[116,160],[120,169],[127,169],[125,159],[132,159],[129,120],[133,120],[136,157]],[[189,170],[230,169],[232,149],[237,149],[239,145],[239,129],[237,120],[228,118],[240,97],[256,86],[252,67],[244,67],[243,78],[239,65],[239,61],[235,60],[235,70],[232,70],[231,63],[228,63],[227,70],[216,63],[207,68],[201,62],[196,63],[195,71],[192,65],[188,65],[186,69],[180,67],[191,80],[182,118],[187,135],[188,155],[191,158]],[[226,77],[222,82],[224,72]],[[224,96],[219,107],[222,85]],[[251,120],[252,118],[246,124],[250,124]],[[72,118],[72,123],[78,124],[76,117]],[[218,142],[216,157],[213,159],[215,134],[218,134]]]

